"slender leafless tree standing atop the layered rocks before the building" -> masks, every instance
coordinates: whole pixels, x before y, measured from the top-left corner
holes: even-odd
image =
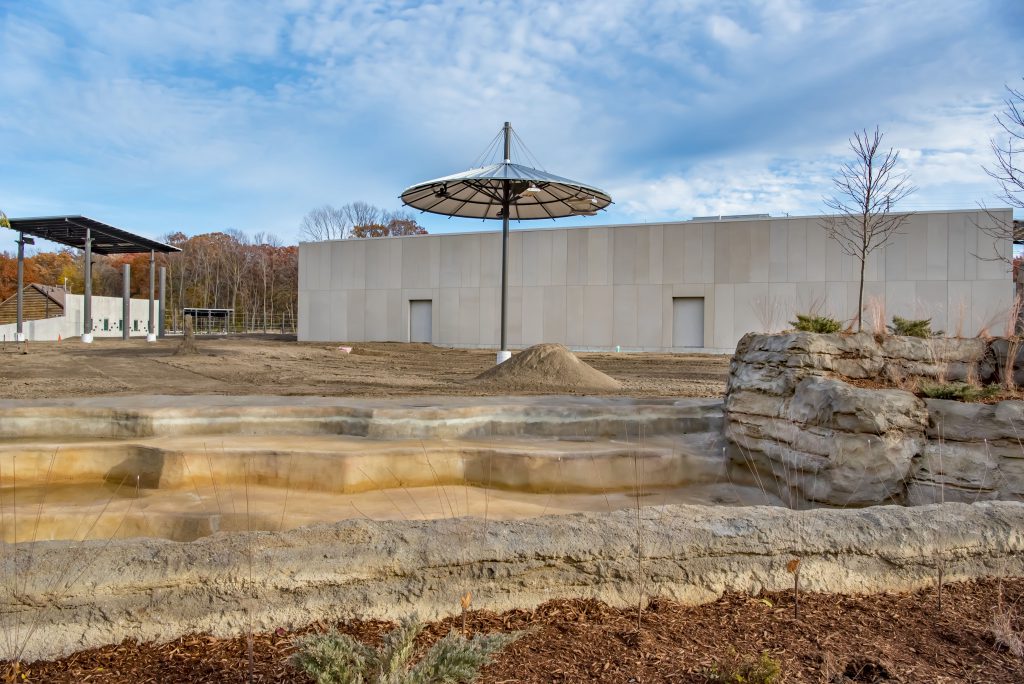
[[[853,160],[843,164],[833,178],[836,194],[823,199],[835,212],[822,219],[822,227],[840,248],[860,262],[860,287],[857,291],[857,331],[860,332],[864,307],[864,264],[868,255],[885,247],[910,218],[895,213],[893,207],[916,190],[906,173],[896,170],[899,153],[882,148],[882,131],[854,132],[850,138]]]

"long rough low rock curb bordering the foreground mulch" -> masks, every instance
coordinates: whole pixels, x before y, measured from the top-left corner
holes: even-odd
[[[811,592],[910,591],[1024,574],[1024,505],[790,511],[779,507],[643,509],[643,574],[635,512],[526,521],[349,520],[288,532],[4,545],[0,643],[53,658],[126,638],[238,635],[322,619],[432,619],[473,606],[529,608],[549,599],[685,603],[726,591],[793,586],[801,558]],[[11,593],[11,588],[16,588]],[[31,626],[32,629],[28,629]],[[9,647],[9,646],[8,646]],[[3,653],[9,657],[9,653]]]

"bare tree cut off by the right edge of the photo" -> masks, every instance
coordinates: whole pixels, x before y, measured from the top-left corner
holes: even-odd
[[[1007,97],[1002,100],[1006,110],[995,115],[995,121],[1002,129],[997,137],[989,138],[995,164],[982,167],[989,176],[995,179],[1001,190],[998,198],[1011,207],[1024,209],[1024,163],[1021,154],[1024,152],[1024,90],[1015,90],[1007,86]],[[985,261],[1013,262],[1013,249],[1000,250],[1000,245],[1013,245],[1021,239],[1021,230],[1017,228],[1011,215],[1009,220],[992,211],[984,210],[988,220],[977,223],[978,229],[992,239],[992,255],[975,255]]]

